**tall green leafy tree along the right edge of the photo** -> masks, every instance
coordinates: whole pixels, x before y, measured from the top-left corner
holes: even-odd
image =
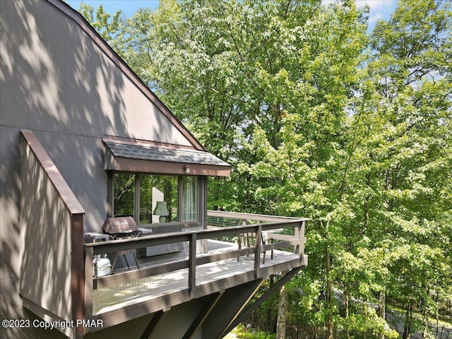
[[[391,297],[407,309],[404,338],[412,310],[427,319],[432,292],[450,269],[437,240],[451,237],[444,222],[451,212],[451,20],[446,1],[400,1],[390,20],[376,25],[368,66],[383,129],[369,153],[376,169],[369,175],[381,178],[374,220],[383,227],[373,239],[390,252]]]

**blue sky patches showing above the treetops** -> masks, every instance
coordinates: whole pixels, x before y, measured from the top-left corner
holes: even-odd
[[[323,3],[328,4],[333,1],[335,0],[323,0]],[[66,0],[66,2],[75,9],[78,9],[82,3],[90,4],[94,8],[102,4],[107,13],[114,14],[121,9],[127,17],[130,17],[138,8],[156,8],[159,0]],[[368,5],[370,8],[369,30],[374,28],[377,20],[388,19],[397,4],[397,0],[356,0],[356,2],[359,7]]]

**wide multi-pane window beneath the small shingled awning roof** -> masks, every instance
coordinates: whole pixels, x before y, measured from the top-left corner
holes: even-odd
[[[198,220],[198,177],[113,174],[115,216],[131,215],[141,225]]]

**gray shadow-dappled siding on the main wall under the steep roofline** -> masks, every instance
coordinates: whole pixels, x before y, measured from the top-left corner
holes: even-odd
[[[193,146],[193,142],[143,94],[130,73],[121,71],[116,61],[52,2],[0,1],[0,51],[0,318],[35,319],[23,309],[19,296],[20,232],[24,227],[19,222],[20,196],[30,193],[21,186],[20,130],[35,134],[69,184],[85,210],[86,232],[99,231],[107,217],[102,137],[184,146]],[[35,220],[40,220],[38,217]],[[44,235],[39,233],[39,225],[33,227],[35,231],[27,232]],[[49,246],[55,240],[49,239]],[[22,290],[34,288],[36,298],[51,292],[46,290],[51,286],[33,283],[28,281]],[[68,297],[67,286],[61,288],[60,302]],[[59,309],[61,304],[55,307]],[[132,321],[131,326],[140,321],[143,319]],[[136,332],[143,333],[143,326],[138,328]],[[0,338],[64,335],[40,328],[0,328]]]

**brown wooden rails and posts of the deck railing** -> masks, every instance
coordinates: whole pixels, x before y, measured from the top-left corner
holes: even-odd
[[[251,260],[251,265],[254,264],[252,266],[252,270],[254,270],[252,277],[258,279],[263,278],[264,275],[273,274],[273,270],[278,268],[287,270],[305,264],[304,243],[306,239],[304,238],[304,225],[308,219],[250,215],[246,213],[216,213],[215,211],[213,213],[209,211],[208,215],[239,220],[256,220],[258,223],[215,227],[207,230],[190,230],[189,232],[169,232],[145,237],[85,244],[85,312],[87,319],[93,317],[93,290],[103,287],[128,283],[155,275],[173,273],[178,270],[188,270],[188,283],[184,288],[189,290],[192,297],[194,297],[194,292],[198,286],[196,271],[197,268],[203,265],[227,261],[228,259],[239,261],[240,258],[249,256],[248,260]],[[280,234],[284,230],[287,230],[290,234]],[[246,246],[239,249],[237,249],[237,246],[230,244],[221,250],[208,250],[207,243],[209,241],[215,242],[215,244],[223,243],[223,238],[235,239],[240,237],[241,234],[252,234],[252,244],[246,244]],[[267,239],[272,239],[272,241],[266,241]],[[136,268],[102,277],[93,276],[93,258],[98,254],[124,253],[126,251],[137,251],[168,244],[182,244],[184,256],[174,256],[174,260],[153,263],[149,267]],[[267,260],[266,265],[261,263],[261,256],[263,255],[265,260],[267,251],[272,251],[271,257],[273,258],[273,251],[278,249],[284,251],[286,248],[298,250],[290,252],[292,256],[288,256],[286,261],[282,258],[277,264],[273,264],[270,260]],[[221,264],[219,263],[218,265],[219,269],[221,269]],[[272,265],[275,268],[272,268]],[[246,273],[246,277],[250,277],[249,272]]]

